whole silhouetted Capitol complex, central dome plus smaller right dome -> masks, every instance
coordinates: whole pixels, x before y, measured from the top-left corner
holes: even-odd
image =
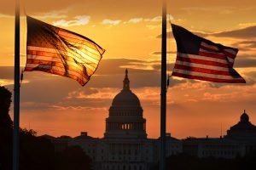
[[[159,161],[160,139],[148,139],[143,107],[130,88],[125,71],[123,88],[113,98],[102,139],[87,132],[78,137],[45,137],[55,144],[55,151],[79,145],[93,161],[94,170],[148,170]],[[166,157],[186,153],[198,157],[236,158],[256,150],[256,127],[244,111],[241,121],[230,127],[224,137],[175,139],[166,133]]]

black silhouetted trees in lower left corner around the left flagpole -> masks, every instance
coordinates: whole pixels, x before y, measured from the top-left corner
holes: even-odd
[[[13,122],[9,116],[11,92],[0,86],[0,170],[12,169]],[[20,170],[90,170],[91,160],[79,146],[55,153],[49,139],[20,128]]]

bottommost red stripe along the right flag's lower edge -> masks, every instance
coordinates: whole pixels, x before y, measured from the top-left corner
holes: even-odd
[[[218,79],[218,78],[209,78],[209,77],[198,77],[198,76],[191,76],[186,75],[182,73],[172,72],[172,76],[174,77],[183,77],[183,78],[189,78],[189,79],[197,79],[197,80],[203,80],[207,82],[229,82],[229,83],[246,83],[245,80],[241,79]]]

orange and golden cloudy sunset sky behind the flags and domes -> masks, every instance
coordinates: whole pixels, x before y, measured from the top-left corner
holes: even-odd
[[[113,97],[128,68],[131,90],[147,119],[148,138],[160,136],[160,0],[20,0],[20,65],[26,64],[26,14],[89,37],[106,49],[90,82],[25,72],[20,88],[20,127],[38,135],[103,137]],[[246,84],[191,81],[172,77],[167,94],[166,132],[183,139],[219,137],[245,109],[256,124],[256,3],[254,0],[167,1],[168,19],[213,42],[239,48],[234,68]],[[15,3],[1,0],[0,85],[13,90]],[[167,70],[176,43],[167,26]],[[13,115],[13,106],[10,111]],[[12,116],[13,117],[13,116]]]

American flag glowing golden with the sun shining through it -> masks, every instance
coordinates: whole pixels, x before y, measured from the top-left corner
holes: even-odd
[[[44,71],[70,77],[82,86],[96,71],[105,50],[72,31],[27,16],[25,71]]]

